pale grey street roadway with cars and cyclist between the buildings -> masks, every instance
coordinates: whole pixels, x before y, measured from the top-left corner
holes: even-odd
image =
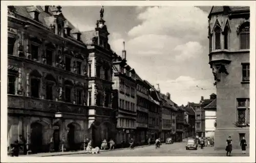
[[[158,149],[155,146],[148,146],[143,148],[103,151],[99,154],[72,154],[63,156],[226,156],[225,151],[214,151],[213,147],[205,147],[198,150],[186,150],[185,142],[177,142],[174,144],[162,146]],[[249,154],[233,153],[232,156],[249,156]]]

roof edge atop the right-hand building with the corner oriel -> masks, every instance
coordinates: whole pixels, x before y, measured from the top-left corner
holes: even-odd
[[[218,13],[222,13],[225,10],[225,7],[228,8],[228,12],[239,12],[239,11],[249,11],[250,7],[249,6],[212,6],[209,16],[212,14],[218,14]],[[208,16],[208,17],[209,17]]]

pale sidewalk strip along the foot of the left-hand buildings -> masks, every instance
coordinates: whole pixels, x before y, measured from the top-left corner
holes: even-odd
[[[154,145],[154,144],[153,144]],[[150,146],[153,146],[150,145]],[[137,146],[134,148],[143,148],[143,147],[148,147],[148,145],[144,145],[144,146]],[[118,148],[118,149],[114,149],[112,151],[117,151],[117,150],[124,150],[124,149],[130,149],[130,148]],[[110,150],[100,150],[101,152],[108,152]],[[29,155],[19,155],[22,157],[49,157],[49,156],[61,156],[61,155],[71,155],[71,154],[85,154],[86,151],[73,151],[73,152],[52,152],[52,153],[37,153],[37,154],[29,154]]]

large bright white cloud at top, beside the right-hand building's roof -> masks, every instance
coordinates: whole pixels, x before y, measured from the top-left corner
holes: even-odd
[[[151,7],[138,15],[143,23],[129,31],[129,36],[170,35],[206,37],[207,14],[197,7]],[[189,35],[189,36],[187,36]]]

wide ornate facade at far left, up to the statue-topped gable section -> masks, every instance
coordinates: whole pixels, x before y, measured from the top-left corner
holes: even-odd
[[[88,133],[87,46],[57,6],[8,6],[8,146],[80,148]]]

